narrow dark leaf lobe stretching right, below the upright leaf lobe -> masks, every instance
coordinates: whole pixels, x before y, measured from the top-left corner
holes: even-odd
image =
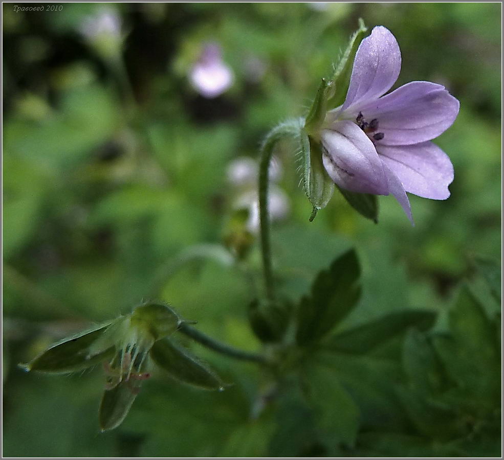
[[[324,343],[327,350],[365,354],[403,334],[410,327],[420,330],[429,329],[436,319],[436,314],[429,310],[406,310],[389,313],[367,324],[340,332]]]

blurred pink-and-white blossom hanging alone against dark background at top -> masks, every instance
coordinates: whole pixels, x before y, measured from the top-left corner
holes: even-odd
[[[223,62],[221,47],[216,43],[205,46],[200,59],[189,74],[191,83],[203,97],[212,99],[223,94],[233,82],[233,72]]]

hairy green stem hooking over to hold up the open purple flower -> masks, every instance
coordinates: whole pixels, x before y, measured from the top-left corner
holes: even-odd
[[[299,135],[299,120],[282,123],[273,128],[261,145],[259,164],[259,230],[262,252],[262,270],[264,273],[266,297],[275,300],[273,268],[271,263],[270,216],[268,213],[269,167],[273,148],[284,137]]]

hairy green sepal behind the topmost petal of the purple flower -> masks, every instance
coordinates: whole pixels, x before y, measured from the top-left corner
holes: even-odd
[[[359,18],[359,29],[350,36],[346,50],[335,66],[335,71],[331,79],[327,82],[328,87],[330,87],[332,91],[331,96],[325,102],[327,110],[338,107],[345,101],[350,75],[352,75],[352,68],[354,66],[355,55],[366,32],[367,28],[364,25],[364,21]]]

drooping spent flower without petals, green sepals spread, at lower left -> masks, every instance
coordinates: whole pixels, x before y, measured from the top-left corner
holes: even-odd
[[[222,390],[223,383],[205,364],[170,336],[182,319],[169,305],[145,303],[86,331],[65,337],[28,364],[27,371],[62,374],[102,364],[105,373],[99,419],[102,430],[117,427],[126,417],[140,386],[150,378],[152,363],[183,383]]]

